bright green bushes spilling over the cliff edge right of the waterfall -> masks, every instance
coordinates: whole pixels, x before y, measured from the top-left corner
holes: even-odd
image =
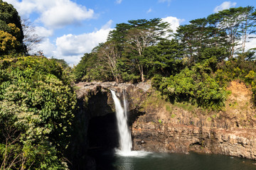
[[[159,77],[155,77],[153,84],[169,96],[170,101],[186,101],[203,108],[220,109],[224,106],[227,94],[225,89],[210,77],[208,69],[209,67],[197,64],[191,69],[183,69],[175,76],[163,77],[161,82]]]

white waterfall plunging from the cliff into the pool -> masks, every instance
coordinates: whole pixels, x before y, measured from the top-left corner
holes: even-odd
[[[124,93],[124,108],[114,91],[110,90],[114,100],[114,107],[117,116],[117,128],[119,132],[119,149],[123,154],[129,154],[132,149],[132,136],[127,123],[127,101]]]

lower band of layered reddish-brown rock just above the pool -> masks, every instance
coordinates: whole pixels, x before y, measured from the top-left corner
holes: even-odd
[[[256,130],[253,129],[226,130],[207,126],[140,122],[132,126],[132,135],[135,150],[193,151],[256,159]]]

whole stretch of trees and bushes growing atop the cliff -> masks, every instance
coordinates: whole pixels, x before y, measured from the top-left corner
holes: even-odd
[[[75,67],[77,81],[146,81],[170,101],[220,109],[234,79],[255,91],[256,12],[229,8],[179,26],[176,33],[159,18],[117,24],[107,42],[85,54]]]

